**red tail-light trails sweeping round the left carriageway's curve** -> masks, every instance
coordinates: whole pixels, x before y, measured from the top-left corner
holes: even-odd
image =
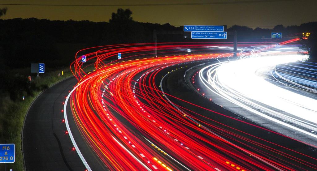
[[[151,57],[153,44],[146,43],[93,47],[78,52],[93,51],[85,55],[87,62],[94,61],[95,70],[83,72],[81,59],[72,63],[78,84],[69,103],[78,129],[105,166],[109,170],[135,171],[317,169],[310,162],[316,162],[312,156],[222,124],[166,99],[165,96],[182,100],[161,91],[159,82],[165,74],[196,62],[232,55],[206,53],[212,46],[228,45],[159,43],[157,50],[162,56],[157,58]],[[196,49],[195,54],[183,54],[186,48]],[[125,57],[105,62],[117,53]],[[200,109],[209,111],[210,115],[224,115]],[[254,129],[264,129],[226,117]]]

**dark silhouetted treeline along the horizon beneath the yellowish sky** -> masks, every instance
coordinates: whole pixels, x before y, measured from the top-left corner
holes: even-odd
[[[36,18],[0,19],[0,77],[4,78],[0,90],[10,90],[18,94],[25,89],[26,75],[12,73],[15,68],[30,67],[30,63],[46,63],[56,68],[69,66],[74,54],[84,48],[100,45],[153,42],[153,30],[183,30],[169,23],[143,23],[133,21],[129,9],[118,9],[108,22],[90,21],[50,21]],[[273,29],[248,28],[234,25],[228,32],[237,31],[238,41],[268,41],[271,32],[282,32],[283,36],[313,31],[317,22],[309,22],[300,26],[277,25]],[[312,34],[313,37],[314,34]],[[227,40],[184,39],[182,35],[158,35],[158,42],[181,41],[233,41]],[[307,41],[306,41],[307,42]],[[303,42],[305,43],[305,42]],[[307,50],[310,50],[307,46]],[[22,79],[23,78],[23,79]],[[22,79],[22,82],[21,82]],[[16,88],[12,84],[18,82]],[[21,87],[21,85],[23,85]],[[11,96],[15,99],[17,95]]]

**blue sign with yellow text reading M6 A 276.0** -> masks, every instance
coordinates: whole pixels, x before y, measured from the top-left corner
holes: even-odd
[[[15,154],[14,144],[0,144],[0,163],[14,163]]]

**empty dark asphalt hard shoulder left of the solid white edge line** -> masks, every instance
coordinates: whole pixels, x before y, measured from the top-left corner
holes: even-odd
[[[62,123],[62,101],[76,83],[74,77],[50,87],[36,98],[27,113],[23,129],[25,168],[32,170],[84,170],[72,153]]]

